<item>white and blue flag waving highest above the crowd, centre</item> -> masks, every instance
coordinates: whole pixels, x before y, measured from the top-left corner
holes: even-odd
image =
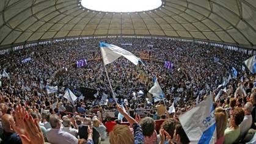
[[[119,46],[101,42],[100,51],[104,65],[108,65],[109,63],[114,62],[121,56],[130,60],[132,63],[134,63],[134,65],[137,65],[139,62],[141,62],[144,65],[140,58],[134,56],[134,54],[132,54],[130,51],[126,51],[125,49],[122,49]]]

